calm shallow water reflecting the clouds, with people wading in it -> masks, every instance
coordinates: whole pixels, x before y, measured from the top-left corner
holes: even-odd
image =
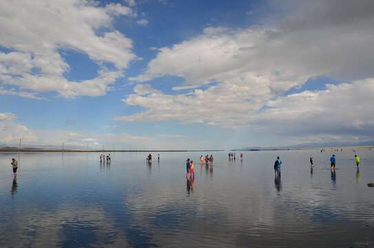
[[[373,151],[227,153],[0,154],[0,247],[374,247]]]

